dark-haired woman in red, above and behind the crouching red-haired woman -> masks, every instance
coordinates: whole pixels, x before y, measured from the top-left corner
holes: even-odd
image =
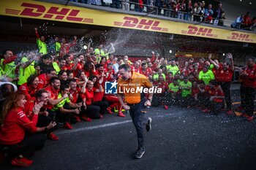
[[[35,93],[37,92],[38,88],[38,83],[39,83],[39,78],[37,77],[36,74],[32,74],[29,76],[28,80],[26,83],[23,85],[20,85],[18,90],[23,91],[26,95],[26,100],[29,101],[31,97],[35,96]]]

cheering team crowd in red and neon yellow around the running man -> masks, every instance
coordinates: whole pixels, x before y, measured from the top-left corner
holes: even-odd
[[[44,146],[45,140],[59,139],[54,131],[82,120],[90,122],[105,114],[125,117],[124,104],[118,96],[105,93],[105,82],[118,80],[118,68],[129,65],[132,72],[145,75],[162,93],[154,94],[153,107],[195,107],[202,112],[218,115],[224,111],[233,115],[230,85],[234,69],[241,77],[241,106],[247,120],[253,120],[256,65],[249,58],[243,68],[235,68],[233,56],[219,62],[211,54],[207,58],[165,58],[152,52],[151,58],[137,60],[115,57],[106,53],[103,45],[75,53],[78,39],[72,42],[55,37],[53,45],[37,36],[40,55],[13,55],[4,50],[0,62],[1,128],[0,159],[7,153],[14,166],[31,166],[29,157]],[[54,51],[54,53],[53,53]],[[42,54],[42,55],[41,55]]]

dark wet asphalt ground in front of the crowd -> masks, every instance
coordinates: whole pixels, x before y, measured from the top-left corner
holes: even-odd
[[[238,91],[233,92],[234,107]],[[196,108],[150,108],[152,129],[145,131],[143,158],[134,157],[137,137],[132,120],[117,114],[59,128],[59,141],[47,141],[26,169],[256,169],[256,120],[203,113]],[[1,164],[0,169],[23,169]]]

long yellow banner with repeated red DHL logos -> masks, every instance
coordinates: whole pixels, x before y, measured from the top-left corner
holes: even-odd
[[[241,31],[211,28],[83,7],[64,6],[41,1],[1,0],[0,15],[256,43],[256,34]]]

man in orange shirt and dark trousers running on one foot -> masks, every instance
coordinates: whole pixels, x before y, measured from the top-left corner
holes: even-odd
[[[151,130],[151,117],[144,117],[146,107],[151,106],[153,93],[149,93],[148,98],[145,97],[144,93],[136,91],[138,88],[152,88],[152,83],[144,76],[137,72],[132,72],[131,67],[128,64],[119,66],[118,89],[129,88],[127,90],[118,91],[118,100],[121,106],[129,111],[129,115],[132,118],[132,123],[135,125],[138,137],[138,150],[135,154],[135,158],[142,158],[145,153],[144,149],[144,136],[143,136],[143,125],[146,124],[146,131]],[[132,93],[132,89],[135,89]],[[123,96],[124,95],[124,96]],[[124,101],[123,101],[124,97]],[[124,103],[125,102],[125,103]]]

